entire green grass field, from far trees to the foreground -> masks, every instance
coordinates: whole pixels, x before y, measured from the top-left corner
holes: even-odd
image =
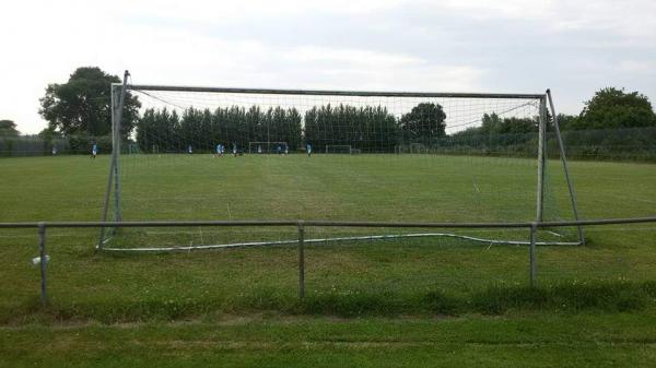
[[[571,163],[586,218],[654,215],[656,166]],[[530,221],[535,162],[291,155],[122,161],[125,219]],[[548,215],[570,218],[550,162]],[[98,219],[108,157],[0,159],[0,222]],[[307,237],[374,229],[309,228]],[[583,247],[423,238],[175,254],[94,251],[49,229],[38,307],[35,230],[0,233],[0,366],[648,366],[656,226],[586,229]],[[481,233],[475,233],[481,235]],[[484,234],[527,237],[520,233]],[[136,229],[116,244],[286,239],[294,228]],[[39,348],[45,343],[45,348]]]

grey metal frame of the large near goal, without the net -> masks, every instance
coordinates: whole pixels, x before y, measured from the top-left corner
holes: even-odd
[[[421,93],[421,92],[372,92],[372,91],[323,91],[323,90],[272,90],[272,88],[234,88],[234,87],[199,87],[199,86],[173,86],[173,85],[134,85],[128,84],[129,72],[126,71],[124,73],[122,83],[114,83],[112,84],[112,157],[109,164],[109,173],[107,178],[107,186],[104,197],[104,205],[102,212],[102,222],[122,222],[122,212],[121,212],[121,181],[120,181],[120,155],[121,155],[121,119],[122,119],[122,109],[125,104],[126,94],[130,91],[137,92],[150,92],[150,91],[164,91],[164,92],[185,92],[185,93],[210,93],[210,94],[221,94],[221,93],[232,93],[232,94],[255,94],[255,95],[291,95],[291,96],[347,96],[353,98],[362,98],[362,97],[380,97],[380,98],[406,98],[406,97],[417,97],[417,98],[493,98],[493,99],[527,99],[535,100],[538,104],[539,110],[539,121],[538,121],[538,142],[537,142],[537,187],[536,187],[536,212],[535,212],[535,222],[541,223],[543,221],[543,211],[544,211],[544,188],[546,188],[546,164],[547,164],[547,126],[548,115],[550,114],[552,117],[551,123],[555,133],[555,141],[558,142],[558,149],[560,152],[560,162],[562,165],[562,169],[564,173],[564,179],[566,181],[569,199],[571,204],[571,210],[573,212],[573,216],[575,221],[579,221],[579,214],[576,202],[576,194],[574,190],[574,186],[572,183],[572,178],[569,170],[567,159],[565,156],[565,147],[563,144],[563,140],[560,133],[559,121],[557,118],[557,112],[554,109],[553,99],[551,96],[551,92],[549,90],[546,93],[540,94],[506,94],[506,93]],[[249,142],[249,152],[257,152],[258,144],[284,144],[286,146],[286,142]],[[348,152],[351,153],[351,145],[330,145],[326,144],[326,153],[329,153],[329,147],[348,147]],[[394,145],[393,152],[400,152],[401,145]],[[422,145],[425,149],[425,146]],[[412,150],[411,150],[412,151]],[[109,212],[113,214],[113,218],[109,217]],[[303,219],[303,218],[300,218]],[[97,242],[97,249],[113,249],[110,247],[106,247],[106,244],[109,241],[114,233],[113,228],[105,229],[104,227],[101,229],[99,239]],[[448,237],[460,237],[459,235],[454,234],[408,234],[409,237],[418,237],[418,236],[448,236]],[[402,237],[402,236],[398,236]],[[488,244],[528,244],[523,241],[499,241],[499,240],[490,240],[478,237],[468,237],[461,236],[467,239],[471,239],[475,241],[483,241]],[[389,236],[380,236],[375,235],[371,237],[336,237],[335,239],[339,240],[362,240],[362,239],[376,239],[376,238],[397,238],[396,235]],[[582,226],[577,226],[577,241],[575,242],[558,242],[558,244],[585,244],[585,235]],[[325,239],[306,239],[306,242],[316,242],[316,241],[330,241],[331,238]],[[292,241],[292,240],[290,240]],[[274,244],[288,244],[286,240],[278,240],[278,241],[262,241],[255,242],[257,245],[274,245]],[[249,245],[248,242],[246,245]],[[225,248],[233,245],[216,245],[215,248]],[[238,245],[237,245],[238,246]],[[212,246],[202,246],[198,247],[198,249],[207,249],[212,248]]]

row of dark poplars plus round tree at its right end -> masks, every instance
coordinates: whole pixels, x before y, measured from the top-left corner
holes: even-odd
[[[403,141],[427,142],[445,135],[444,114],[437,104],[420,104],[397,119],[382,106],[325,105],[302,115],[295,108],[232,106],[214,110],[147,109],[137,123],[142,152],[213,152],[223,144],[231,152],[248,150],[249,142],[286,142],[291,151],[306,143],[314,150],[351,145],[363,152],[394,152]]]

